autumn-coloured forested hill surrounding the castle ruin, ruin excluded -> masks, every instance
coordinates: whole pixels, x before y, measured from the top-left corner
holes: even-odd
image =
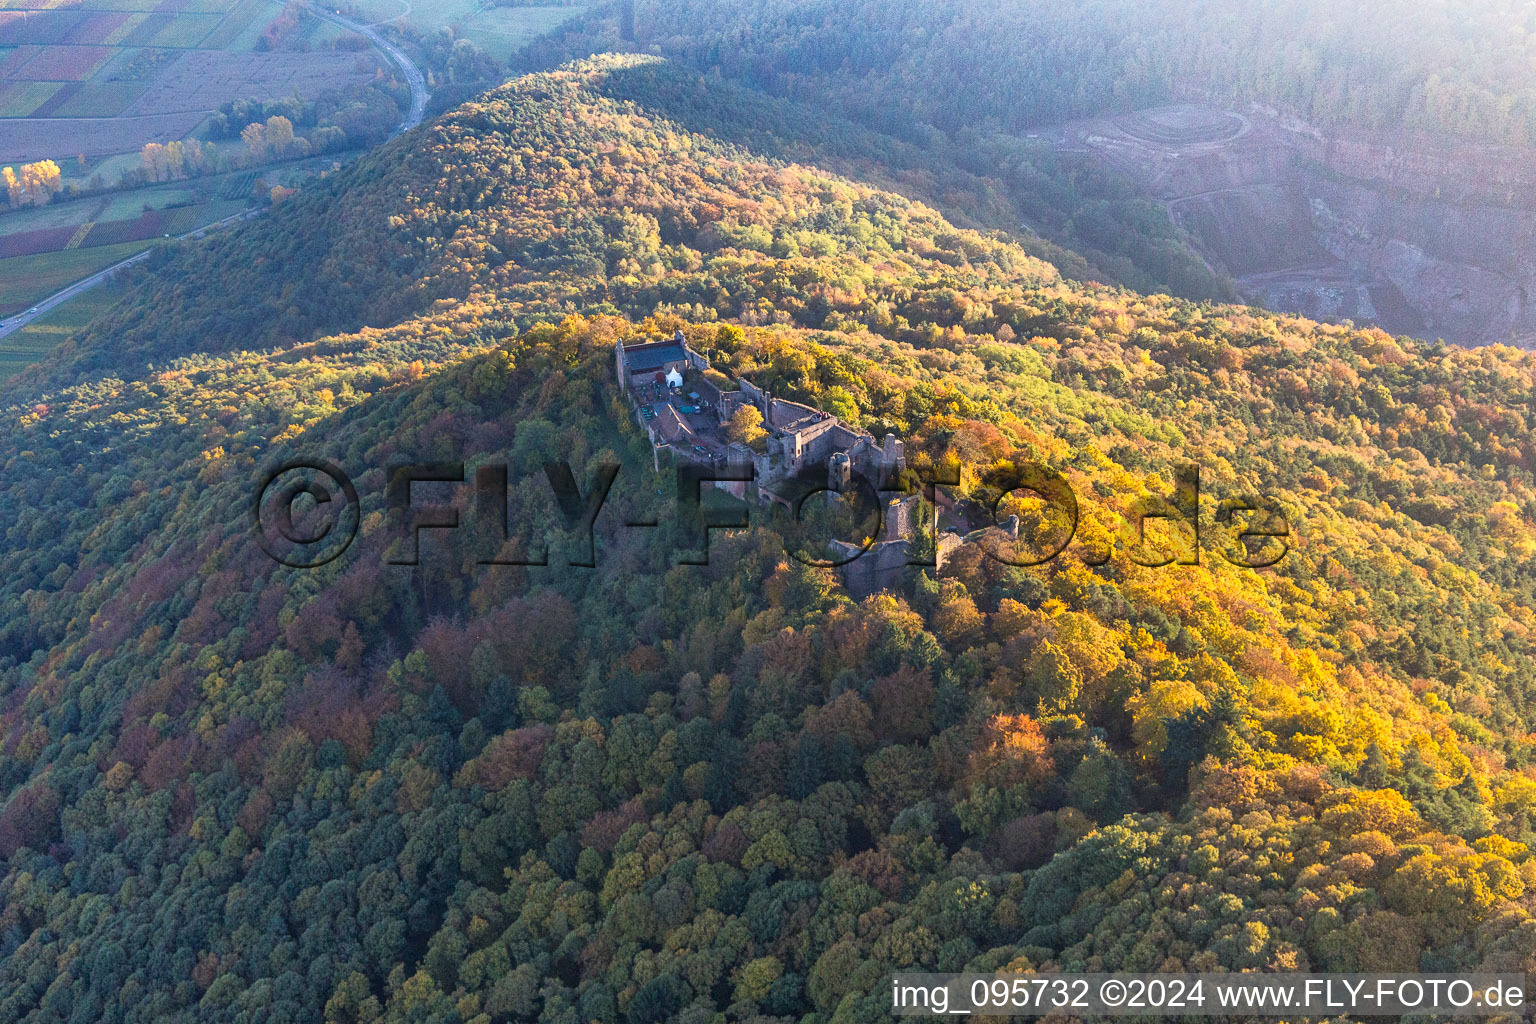
[[[892,969],[1536,970],[1536,362],[1072,284],[616,95],[647,66],[450,112],[0,398],[0,1019],[883,1021]],[[771,524],[677,565],[610,385],[617,339],[677,329],[962,497],[1046,462],[1083,543],[863,602]],[[249,528],[295,456],[362,496],[319,570]],[[467,536],[386,565],[382,467],[453,457],[510,465],[502,554],[554,567]],[[545,459],[624,464],[596,570],[559,568]],[[1212,507],[1272,494],[1292,553],[1084,563],[1189,462]]]

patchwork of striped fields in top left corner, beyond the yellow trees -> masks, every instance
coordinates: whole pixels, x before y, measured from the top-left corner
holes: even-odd
[[[378,57],[327,49],[336,29],[318,18],[258,52],[283,11],[280,0],[0,0],[0,164],[54,160],[89,177],[114,155],[186,138],[230,100],[372,78]]]

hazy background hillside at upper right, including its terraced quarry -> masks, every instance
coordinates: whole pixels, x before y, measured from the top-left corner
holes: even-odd
[[[521,63],[639,49],[900,138],[995,181],[995,226],[1080,253],[1074,279],[1528,347],[1521,0],[682,0],[636,26],[593,8]],[[1166,104],[1278,130],[1144,130]]]

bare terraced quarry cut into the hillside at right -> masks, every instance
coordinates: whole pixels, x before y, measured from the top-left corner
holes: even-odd
[[[1252,301],[1462,344],[1536,347],[1536,160],[1172,106],[1061,129],[1161,198]]]

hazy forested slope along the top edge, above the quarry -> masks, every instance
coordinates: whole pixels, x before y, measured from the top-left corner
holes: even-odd
[[[1524,0],[641,0],[636,11],[641,46],[897,134],[1026,132],[1200,98],[1279,106],[1329,130],[1536,143],[1536,12]],[[619,43],[611,14],[594,9],[564,34]]]

